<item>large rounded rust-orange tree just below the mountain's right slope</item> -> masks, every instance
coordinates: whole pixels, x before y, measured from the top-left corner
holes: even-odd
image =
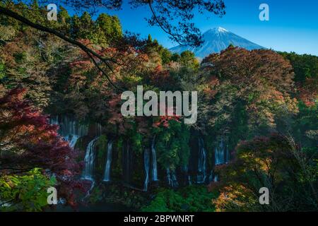
[[[209,105],[211,126],[230,126],[239,102],[247,111],[250,135],[283,129],[278,118],[288,120],[298,112],[293,68],[276,52],[228,47],[202,65],[208,89],[216,90]]]

